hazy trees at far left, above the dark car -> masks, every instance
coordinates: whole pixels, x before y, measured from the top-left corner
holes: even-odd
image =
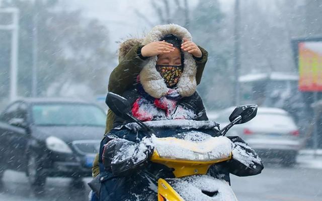
[[[66,84],[85,84],[93,94],[107,90],[112,54],[108,51],[108,31],[98,20],[86,19],[79,10],[59,7],[57,1],[5,0],[2,7],[20,9],[19,90],[31,95],[33,15],[38,15],[38,88],[39,95],[63,95]],[[10,33],[1,32],[2,82],[9,79]],[[8,84],[2,84],[8,87]],[[51,90],[48,91],[48,88]],[[8,96],[9,89],[1,90]],[[4,92],[5,91],[5,92]]]

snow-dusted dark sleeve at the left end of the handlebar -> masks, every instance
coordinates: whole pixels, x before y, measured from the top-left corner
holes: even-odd
[[[125,139],[113,139],[105,147],[102,156],[104,167],[113,175],[129,175],[142,168],[151,157],[153,148],[144,141],[135,143]]]

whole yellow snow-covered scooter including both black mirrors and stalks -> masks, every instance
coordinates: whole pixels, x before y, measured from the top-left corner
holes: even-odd
[[[219,131],[219,137],[197,132],[185,136],[158,138],[153,135],[151,126],[139,121],[131,114],[127,100],[117,94],[108,93],[106,103],[117,115],[146,130],[154,146],[150,160],[173,168],[175,178],[159,178],[158,201],[190,200],[237,200],[230,185],[223,179],[207,175],[211,165],[232,158],[228,146],[223,146],[224,136],[236,124],[243,124],[257,114],[256,105],[235,108],[229,116],[230,124]],[[169,121],[170,122],[170,121]]]

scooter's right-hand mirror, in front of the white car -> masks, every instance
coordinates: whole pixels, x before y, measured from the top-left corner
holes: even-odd
[[[235,124],[244,124],[252,120],[257,114],[257,105],[244,105],[238,106],[229,116],[229,121],[232,122],[237,117],[241,116],[241,119]]]

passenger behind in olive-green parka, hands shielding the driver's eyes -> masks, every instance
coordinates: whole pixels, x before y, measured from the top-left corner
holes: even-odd
[[[137,75],[152,56],[174,51],[177,52],[178,50],[181,54],[188,52],[192,55],[196,64],[197,72],[195,79],[198,85],[201,82],[201,76],[208,59],[208,52],[192,42],[191,37],[190,39],[185,38],[183,40],[183,43],[182,41],[176,42],[177,48],[175,49],[172,43],[168,43],[169,41],[154,41],[145,45],[144,48],[142,45],[143,39],[129,39],[124,41],[119,49],[119,65],[110,75],[108,90],[116,94],[123,94],[126,90],[136,85]],[[142,48],[144,56],[141,54]],[[114,119],[115,114],[111,110],[108,110],[105,133],[108,133],[113,128]],[[100,173],[98,155],[95,158],[92,169],[94,177]]]

